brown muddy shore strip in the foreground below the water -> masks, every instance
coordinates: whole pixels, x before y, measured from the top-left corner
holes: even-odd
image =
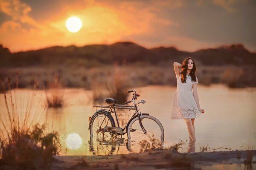
[[[111,156],[55,156],[53,170],[201,169],[214,164],[256,164],[256,150],[178,153],[174,149]]]

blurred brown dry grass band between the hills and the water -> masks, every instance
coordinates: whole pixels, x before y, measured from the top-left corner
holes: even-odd
[[[176,77],[172,64],[170,65],[122,65],[118,66],[125,79],[124,85],[128,83],[130,87],[142,87],[146,85],[170,85],[176,86]],[[31,87],[34,77],[41,79],[39,84],[46,84],[52,75],[60,75],[65,80],[67,88],[93,89],[96,84],[103,83],[104,88],[109,81],[114,85],[113,65],[102,65],[100,67],[85,68],[82,65],[77,67],[49,67],[49,68],[17,68],[22,73],[22,81],[19,87]],[[16,68],[0,68],[0,75],[14,74]],[[196,71],[200,85],[210,85],[219,83],[230,88],[256,87],[256,77],[253,74],[256,68],[253,66],[205,66],[199,65]],[[119,74],[119,73],[118,73]],[[122,76],[122,74],[119,74]],[[120,78],[120,77],[119,77]],[[95,82],[96,81],[96,82]],[[43,85],[40,86],[43,88]],[[95,87],[94,89],[97,90]]]

